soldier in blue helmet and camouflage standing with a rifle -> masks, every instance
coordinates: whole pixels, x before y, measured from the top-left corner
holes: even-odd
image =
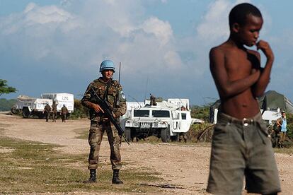
[[[96,169],[98,168],[98,154],[100,150],[100,143],[103,139],[103,134],[106,131],[108,141],[110,144],[110,161],[113,170],[113,184],[123,184],[119,178],[119,170],[122,167],[120,156],[120,141],[121,137],[118,135],[117,129],[105,117],[103,109],[96,104],[91,97],[89,91],[91,88],[96,91],[101,99],[106,100],[110,105],[113,116],[119,120],[119,117],[126,112],[126,99],[122,91],[122,86],[117,81],[113,80],[113,73],[115,73],[115,64],[111,60],[104,60],[100,64],[100,73],[102,77],[92,81],[81,103],[90,110],[91,129],[89,130],[88,143],[91,146],[88,155],[88,170],[90,170],[90,178],[86,183],[96,182]]]

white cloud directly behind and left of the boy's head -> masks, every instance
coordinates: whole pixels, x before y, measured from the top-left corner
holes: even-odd
[[[250,2],[245,0],[215,0],[209,4],[205,15],[197,25],[196,35],[188,42],[193,42],[195,45],[193,63],[197,68],[194,70],[197,76],[202,76],[209,73],[209,49],[220,45],[222,42],[228,40],[229,30],[229,13],[231,8],[236,4],[243,2]]]

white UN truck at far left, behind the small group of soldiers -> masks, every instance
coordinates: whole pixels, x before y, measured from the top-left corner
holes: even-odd
[[[42,113],[45,105],[52,106],[54,102],[57,102],[57,112],[60,112],[63,105],[65,105],[69,113],[74,111],[74,95],[70,93],[44,93],[41,98],[32,98],[26,95],[19,95],[16,105],[11,108],[11,112],[16,114],[17,112],[23,113],[23,118],[30,116],[37,116],[40,119],[44,117]]]

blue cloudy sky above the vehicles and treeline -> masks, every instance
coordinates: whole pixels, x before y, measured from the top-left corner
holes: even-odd
[[[209,49],[228,38],[229,11],[240,2],[263,13],[260,39],[275,52],[268,90],[293,100],[290,0],[0,0],[0,78],[18,89],[1,98],[73,93],[80,99],[100,62],[112,59],[122,63],[127,100],[152,93],[212,102],[219,96]]]

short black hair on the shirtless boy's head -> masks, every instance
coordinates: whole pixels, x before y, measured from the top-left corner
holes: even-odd
[[[229,13],[229,25],[232,28],[234,23],[243,25],[246,23],[246,16],[249,14],[262,18],[260,10],[252,4],[243,3],[234,6]]]

